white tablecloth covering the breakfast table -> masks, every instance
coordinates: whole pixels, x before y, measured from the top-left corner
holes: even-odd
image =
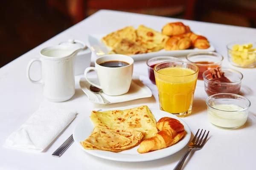
[[[30,59],[39,57],[41,48],[56,45],[70,38],[87,42],[88,34],[104,34],[130,25],[137,27],[143,24],[156,30],[161,30],[167,22],[177,20],[180,21],[180,19],[166,17],[101,10],[0,68],[0,144],[3,144],[9,134],[17,130],[26,121],[44,100],[41,85],[32,84],[26,78],[27,63]],[[192,30],[201,32],[210,40],[216,51],[224,56],[223,65],[225,67],[239,70],[244,74],[242,91],[252,102],[250,116],[246,125],[236,130],[219,129],[211,125],[207,120],[205,104],[207,95],[204,92],[203,82],[198,81],[193,113],[183,118],[183,120],[189,125],[193,133],[198,128],[210,130],[210,137],[202,150],[196,151],[189,156],[189,161],[186,161],[184,169],[254,170],[256,168],[256,98],[253,96],[256,94],[256,69],[242,69],[230,65],[227,62],[226,44],[235,40],[256,40],[256,29],[189,20],[181,21],[189,25]],[[94,54],[93,59],[95,59]],[[32,77],[36,79],[36,77],[40,76],[39,67],[35,64],[32,69],[34,70]],[[159,108],[157,88],[147,78],[145,61],[135,62],[134,72],[142,75],[141,79],[151,89],[154,97],[107,106],[95,105],[88,102],[87,96],[79,89],[79,78],[81,76],[77,76],[75,96],[67,102],[59,103],[59,105],[65,105],[66,108],[78,111],[79,114],[76,119],[45,153],[29,153],[0,147],[0,170],[171,170],[185,153],[186,148],[164,159],[137,163],[99,159],[80,150],[76,144],[72,144],[60,158],[51,156],[52,152],[70,136],[75,125],[84,117],[88,117],[93,109],[133,107],[137,105]]]

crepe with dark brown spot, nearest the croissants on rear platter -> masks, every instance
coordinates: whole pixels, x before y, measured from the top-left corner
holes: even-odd
[[[169,39],[168,36],[143,25],[140,25],[139,28],[137,28],[136,34],[137,42],[145,48],[148,48],[148,52],[163,49],[166,41]]]

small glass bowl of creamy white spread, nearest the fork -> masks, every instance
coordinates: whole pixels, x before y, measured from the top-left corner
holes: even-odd
[[[222,128],[244,125],[251,105],[246,97],[227,93],[209,96],[206,104],[209,122]]]

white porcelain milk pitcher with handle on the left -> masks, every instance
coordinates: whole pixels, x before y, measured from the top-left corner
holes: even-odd
[[[86,48],[86,47],[85,47]],[[76,54],[84,48],[55,45],[40,51],[40,58],[29,61],[27,77],[30,82],[44,86],[44,97],[51,102],[64,102],[75,94],[74,62]],[[41,62],[41,79],[35,81],[29,76],[33,62]]]

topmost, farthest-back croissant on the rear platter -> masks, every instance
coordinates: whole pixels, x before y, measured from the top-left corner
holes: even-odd
[[[189,26],[185,26],[181,22],[167,23],[162,29],[162,33],[168,36],[180,35],[188,32],[190,32]]]

